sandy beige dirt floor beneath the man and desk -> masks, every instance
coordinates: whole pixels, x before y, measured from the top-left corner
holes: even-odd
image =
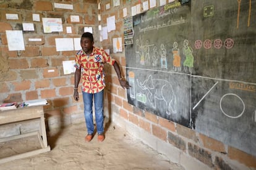
[[[184,169],[114,124],[103,142],[97,136],[85,142],[86,134],[85,123],[53,129],[48,134],[50,152],[2,163],[0,169]],[[0,158],[38,147],[37,136],[2,142]]]

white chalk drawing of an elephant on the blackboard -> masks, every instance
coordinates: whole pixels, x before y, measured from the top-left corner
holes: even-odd
[[[166,105],[166,114],[171,115],[171,113],[176,113],[176,95],[173,92],[173,86],[169,84],[168,81],[164,79],[152,79],[152,76],[148,76],[148,79],[139,83],[137,79],[137,84],[143,90],[147,90],[147,97],[153,108],[156,108],[156,99],[164,100]]]

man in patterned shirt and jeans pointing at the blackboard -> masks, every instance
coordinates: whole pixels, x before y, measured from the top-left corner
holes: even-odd
[[[79,100],[77,88],[82,73],[82,94],[87,136],[85,141],[90,142],[93,138],[93,113],[92,105],[94,99],[95,121],[98,132],[98,140],[105,139],[103,127],[103,94],[105,84],[104,63],[114,66],[119,83],[123,88],[129,89],[129,84],[121,76],[121,71],[116,60],[112,59],[103,49],[93,46],[93,34],[83,33],[80,45],[82,49],[75,55],[75,88],[74,99]]]

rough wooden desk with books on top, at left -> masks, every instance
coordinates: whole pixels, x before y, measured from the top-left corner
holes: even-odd
[[[18,121],[25,121],[25,120],[29,120],[29,119],[36,119],[36,118],[40,119],[39,132],[38,131],[30,132],[27,134],[20,134],[18,136],[1,138],[0,142],[6,142],[9,140],[20,139],[22,137],[37,135],[38,140],[40,141],[41,148],[30,151],[30,152],[20,153],[18,155],[1,158],[0,163],[5,163],[7,161],[16,160],[19,158],[25,158],[25,157],[36,155],[39,153],[49,152],[51,150],[51,148],[47,144],[43,105],[35,106],[35,107],[17,108],[17,109],[13,109],[13,110],[0,111],[0,125],[14,123],[14,122],[18,122]]]

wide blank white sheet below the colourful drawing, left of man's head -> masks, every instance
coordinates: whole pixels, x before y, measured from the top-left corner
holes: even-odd
[[[74,51],[73,38],[55,38],[56,51]]]

